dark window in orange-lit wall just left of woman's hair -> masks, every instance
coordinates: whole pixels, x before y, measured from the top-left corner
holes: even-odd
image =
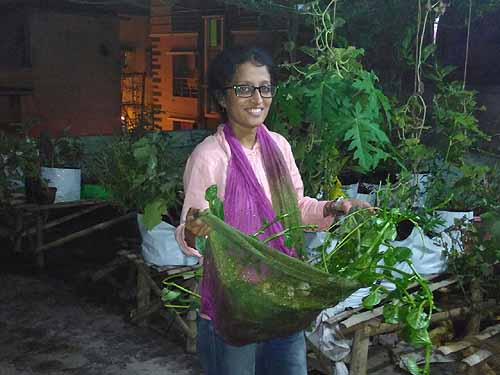
[[[194,52],[172,54],[173,96],[198,97],[198,74]]]

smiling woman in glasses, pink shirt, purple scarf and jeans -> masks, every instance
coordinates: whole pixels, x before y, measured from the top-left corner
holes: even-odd
[[[267,219],[264,211],[271,210],[274,216],[273,210],[279,212],[277,203],[271,203],[278,202],[274,199],[275,177],[292,188],[296,196],[292,203],[298,208],[302,223],[315,224],[320,229],[327,228],[336,213],[347,213],[353,206],[369,206],[352,199],[317,201],[303,196],[290,145],[263,125],[276,93],[271,74],[271,58],[256,48],[225,50],[211,64],[209,88],[226,121],[196,147],[186,165],[182,224],[176,237],[187,255],[201,256],[195,249],[195,237],[206,236],[210,229],[195,214],[208,207],[205,190],[214,184],[224,202],[225,221],[246,233],[255,232],[262,218]],[[270,172],[275,167],[279,176]],[[245,227],[254,216],[253,227]],[[283,243],[274,247],[296,256]],[[209,283],[204,281],[205,278],[201,283],[198,351],[206,374],[307,374],[303,332],[241,347],[225,343],[211,322],[214,301]]]

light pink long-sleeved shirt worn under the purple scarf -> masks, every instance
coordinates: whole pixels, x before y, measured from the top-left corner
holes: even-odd
[[[207,137],[193,151],[186,164],[184,171],[184,205],[182,207],[181,224],[176,229],[176,239],[182,251],[186,255],[201,257],[198,250],[189,247],[184,240],[184,223],[188,210],[193,208],[206,209],[208,202],[205,200],[205,190],[211,185],[217,185],[218,196],[223,201],[226,188],[226,173],[229,159],[231,157],[229,145],[220,125],[214,135]],[[304,185],[299,170],[295,164],[292,149],[287,140],[278,133],[269,132],[273,140],[283,153],[285,162],[290,171],[293,186],[297,192],[299,209],[303,224],[318,225],[319,229],[331,225],[332,217],[323,217],[323,207],[327,201],[318,201],[313,198],[304,197]],[[259,143],[249,150],[243,148],[252,166],[252,169],[264,188],[267,198],[271,201],[271,190],[267,181],[266,172],[262,163],[262,153]]]

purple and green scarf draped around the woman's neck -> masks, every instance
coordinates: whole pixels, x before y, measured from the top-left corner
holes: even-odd
[[[224,125],[224,136],[231,149],[231,159],[227,168],[226,191],[224,193],[224,221],[246,234],[257,232],[264,222],[271,223],[276,216],[287,213],[288,216],[273,223],[259,236],[260,239],[280,233],[283,229],[300,225],[297,193],[293,187],[290,171],[281,150],[263,126],[257,129],[266,177],[271,190],[272,203],[266,196],[248,161],[243,146],[234,135],[231,127]],[[303,233],[294,231],[294,245],[303,249]],[[289,256],[297,256],[294,248],[285,246],[283,236],[269,242],[269,245]],[[205,260],[209,262],[209,259]],[[205,264],[208,267],[207,264]],[[203,274],[201,282],[201,312],[215,318],[213,300],[213,275]]]

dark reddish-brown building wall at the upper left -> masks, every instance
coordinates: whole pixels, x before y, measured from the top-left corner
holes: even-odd
[[[0,12],[0,124],[33,134],[110,134],[120,125],[119,18],[18,2]]]

